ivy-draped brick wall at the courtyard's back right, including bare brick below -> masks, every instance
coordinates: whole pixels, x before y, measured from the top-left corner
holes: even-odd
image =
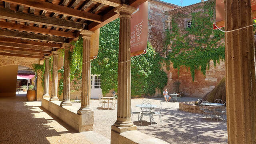
[[[166,12],[163,46],[167,88],[202,97],[225,76],[224,33],[213,30],[215,0]],[[187,22],[192,22],[187,27]]]

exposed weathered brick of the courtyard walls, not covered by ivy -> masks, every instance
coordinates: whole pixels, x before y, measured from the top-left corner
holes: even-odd
[[[207,2],[207,1],[206,1]],[[152,44],[153,48],[162,56],[164,56],[163,41],[164,41],[164,30],[170,28],[170,16],[166,14],[166,11],[175,13],[182,12],[189,14],[193,12],[195,7],[203,6],[206,2],[200,2],[190,6],[178,8],[172,4],[166,4],[158,0],[149,0],[148,6],[148,40]],[[174,9],[175,8],[175,9]],[[197,9],[200,11],[200,9]],[[191,20],[190,18],[180,19],[178,27],[180,29],[186,28],[186,22]],[[223,40],[224,42],[224,40]],[[168,49],[171,49],[169,46]],[[196,70],[195,80],[192,81],[190,70],[187,68],[180,68],[180,75],[178,78],[178,70],[174,69],[172,63],[170,64],[170,70],[166,70],[166,66],[162,66],[168,76],[168,84],[166,88],[169,93],[176,92],[174,90],[174,82],[179,80],[180,91],[185,96],[202,97],[210,92],[220,80],[225,76],[225,62],[220,60],[220,64],[216,64],[214,67],[213,61],[210,61],[210,68],[206,70],[206,75],[202,74],[201,71]],[[155,95],[162,95],[162,91],[158,90]]]

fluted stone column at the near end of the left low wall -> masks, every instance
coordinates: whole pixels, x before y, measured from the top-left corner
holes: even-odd
[[[92,109],[90,108],[91,98],[91,62],[90,62],[90,44],[91,36],[94,32],[89,30],[82,30],[84,43],[83,43],[83,65],[82,65],[82,92],[81,92],[81,108],[78,110],[78,114],[86,114]]]

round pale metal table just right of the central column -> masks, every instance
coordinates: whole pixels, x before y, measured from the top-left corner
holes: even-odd
[[[157,105],[155,105],[155,104],[137,104],[135,106],[141,109],[141,116],[139,118],[139,121],[141,121],[141,125],[142,125],[143,115],[144,116],[149,116],[150,122],[151,122],[151,125],[152,125],[152,121],[154,121],[154,119],[152,117],[151,111],[153,110],[153,108],[157,108]],[[143,109],[148,109],[149,111],[144,112]]]

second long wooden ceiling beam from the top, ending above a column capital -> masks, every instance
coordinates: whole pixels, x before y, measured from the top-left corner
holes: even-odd
[[[16,20],[21,22],[30,22],[34,24],[41,24],[46,26],[55,26],[59,28],[68,28],[72,30],[81,31],[84,28],[82,22],[73,22],[70,20],[64,20],[60,18],[52,18],[48,16],[37,16],[34,14],[28,14],[23,12],[18,12],[14,10],[7,10],[5,8],[0,8],[0,18],[8,20]]]

